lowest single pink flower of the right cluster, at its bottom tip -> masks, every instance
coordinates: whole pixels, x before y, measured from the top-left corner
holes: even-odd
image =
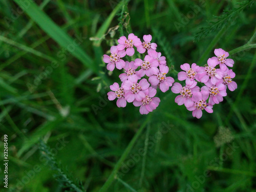
[[[187,110],[193,111],[193,117],[196,117],[198,119],[202,117],[202,110],[205,110],[208,113],[214,112],[212,110],[212,105],[206,103],[207,99],[208,96],[206,94],[203,94],[201,92],[194,93],[192,95],[192,100],[194,101],[194,104],[187,108]]]

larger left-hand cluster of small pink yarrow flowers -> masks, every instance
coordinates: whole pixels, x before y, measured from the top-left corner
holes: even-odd
[[[126,102],[133,102],[135,106],[140,106],[141,114],[148,114],[159,105],[160,99],[155,97],[157,87],[166,92],[172,87],[174,79],[166,77],[169,68],[166,66],[165,57],[156,52],[157,44],[151,42],[152,36],[144,35],[143,40],[141,42],[133,33],[128,38],[120,37],[119,44],[111,47],[111,55],[103,55],[103,61],[108,63],[106,69],[109,71],[113,71],[115,67],[124,70],[119,75],[121,86],[117,82],[110,86],[112,92],[108,93],[109,100],[117,98],[119,108],[124,108]],[[135,48],[141,54],[147,52],[144,59],[124,61],[122,58],[125,55],[134,55]]]

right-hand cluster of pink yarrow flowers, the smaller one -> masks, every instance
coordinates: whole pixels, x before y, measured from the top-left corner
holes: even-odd
[[[227,68],[233,67],[234,61],[227,58],[229,54],[223,49],[215,49],[214,53],[216,56],[209,58],[204,67],[199,67],[196,63],[191,67],[188,63],[181,65],[183,71],[178,73],[178,79],[185,80],[185,86],[176,82],[171,89],[173,93],[180,94],[175,102],[178,105],[184,104],[188,111],[193,111],[193,117],[198,119],[202,117],[203,110],[213,112],[212,106],[223,101],[227,88],[230,91],[237,89],[237,83],[232,81],[236,74]],[[205,86],[200,89],[197,81]]]

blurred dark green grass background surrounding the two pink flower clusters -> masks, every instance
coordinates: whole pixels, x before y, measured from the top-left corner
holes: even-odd
[[[256,191],[252,2],[1,0],[1,190]],[[170,90],[149,115],[117,108],[102,55],[131,32],[176,71],[231,51],[238,89],[201,119]]]

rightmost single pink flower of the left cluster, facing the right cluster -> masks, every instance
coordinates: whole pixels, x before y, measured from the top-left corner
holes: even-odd
[[[160,72],[157,75],[153,75],[148,78],[148,81],[152,84],[152,86],[159,86],[162,92],[166,92],[169,90],[169,87],[173,86],[174,78],[173,77],[166,77],[166,74],[169,71],[167,66],[161,65]]]

